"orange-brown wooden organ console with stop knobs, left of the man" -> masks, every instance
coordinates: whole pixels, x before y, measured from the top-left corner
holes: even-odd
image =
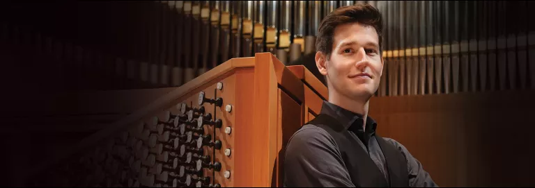
[[[288,139],[327,88],[272,53],[233,58],[82,139],[31,186],[281,187]]]

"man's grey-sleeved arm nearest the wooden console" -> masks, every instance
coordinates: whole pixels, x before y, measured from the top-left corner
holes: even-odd
[[[284,187],[355,187],[334,139],[312,125],[297,130],[284,158]]]

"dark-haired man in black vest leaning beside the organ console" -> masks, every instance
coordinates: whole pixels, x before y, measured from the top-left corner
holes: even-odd
[[[382,74],[380,12],[370,5],[334,10],[320,24],[316,67],[329,101],[290,138],[286,187],[437,187],[394,139],[375,134],[369,99]]]

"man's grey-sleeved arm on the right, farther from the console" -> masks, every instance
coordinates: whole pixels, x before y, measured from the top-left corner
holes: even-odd
[[[435,184],[433,179],[431,179],[431,176],[429,176],[429,173],[424,170],[424,166],[422,166],[421,163],[409,153],[405,146],[403,146],[394,139],[384,139],[385,141],[398,148],[398,150],[401,151],[403,155],[405,155],[405,159],[407,160],[407,170],[409,173],[408,178],[410,187],[438,187],[438,185]]]

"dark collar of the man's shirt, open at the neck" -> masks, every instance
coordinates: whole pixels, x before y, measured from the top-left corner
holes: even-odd
[[[346,128],[346,130],[349,128],[356,128],[357,130],[363,129],[362,123],[364,123],[364,120],[362,119],[362,114],[351,112],[341,108],[339,105],[329,103],[329,101],[323,101],[320,113],[327,114],[331,117],[334,117],[334,119],[338,119],[338,121],[343,125],[343,128]],[[377,122],[370,116],[366,117],[366,132],[371,130],[373,133],[375,133],[376,128]]]

